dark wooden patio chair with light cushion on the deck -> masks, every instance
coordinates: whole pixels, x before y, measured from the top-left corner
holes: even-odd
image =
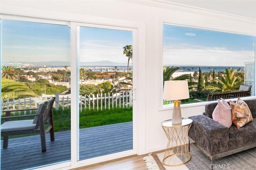
[[[12,135],[25,135],[32,133],[40,133],[41,139],[41,148],[42,152],[46,152],[46,139],[45,134],[50,131],[50,139],[54,141],[54,125],[53,125],[53,115],[52,115],[52,105],[55,101],[55,98],[47,100],[40,104],[37,109],[36,114],[33,115],[19,115],[19,116],[10,116],[10,112],[13,111],[28,111],[35,109],[22,109],[22,110],[10,110],[3,111],[6,113],[5,117],[1,117],[1,119],[5,119],[4,123],[1,125],[1,136],[4,137],[3,148],[8,147],[8,138]],[[26,119],[26,120],[14,120],[11,121],[12,118],[21,118],[21,117],[31,117],[34,116],[34,119]],[[45,125],[48,127],[45,129]]]

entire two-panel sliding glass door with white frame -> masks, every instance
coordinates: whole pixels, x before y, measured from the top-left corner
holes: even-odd
[[[46,134],[46,152],[38,134],[10,135],[8,147],[1,149],[2,169],[70,166],[136,153],[137,29],[66,23],[1,21],[1,86],[9,79],[27,90],[18,96],[2,91],[1,124],[6,111],[14,111],[12,116],[36,114],[41,103],[56,98],[55,140]]]

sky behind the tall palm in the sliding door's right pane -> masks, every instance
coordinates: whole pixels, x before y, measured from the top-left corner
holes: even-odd
[[[80,27],[80,62],[112,61],[127,63],[123,47],[132,45],[132,32]],[[91,56],[88,58],[87,56]],[[132,63],[132,62],[131,62]]]

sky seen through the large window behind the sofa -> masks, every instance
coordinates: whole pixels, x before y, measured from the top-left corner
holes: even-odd
[[[250,35],[164,25],[163,46],[164,65],[244,66],[255,61],[255,37]]]

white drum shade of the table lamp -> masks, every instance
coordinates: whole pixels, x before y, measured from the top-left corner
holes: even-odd
[[[189,98],[188,81],[175,80],[164,82],[164,100],[183,100]]]

